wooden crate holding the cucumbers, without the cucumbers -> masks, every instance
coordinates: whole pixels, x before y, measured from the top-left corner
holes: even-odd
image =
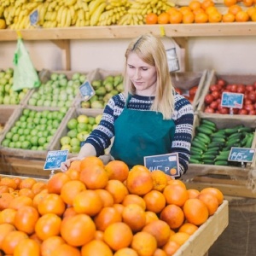
[[[217,125],[218,129],[233,128],[236,125],[244,125],[253,129],[256,127],[256,116],[250,119],[247,116],[234,116],[227,119],[223,114],[198,113],[195,114],[194,127],[199,125],[201,119],[211,120]],[[255,148],[255,145],[254,133],[251,148]],[[253,175],[253,172],[253,164],[250,165],[249,163],[246,167],[189,163],[189,169],[181,179],[189,188],[202,189],[207,186],[214,186],[220,189],[224,195],[256,198],[255,175]]]

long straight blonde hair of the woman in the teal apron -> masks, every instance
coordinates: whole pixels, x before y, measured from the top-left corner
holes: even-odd
[[[162,113],[164,119],[172,119],[175,90],[172,86],[164,44],[160,38],[147,33],[132,40],[128,45],[125,52],[124,72],[126,97],[128,96],[128,93],[134,95],[136,91],[134,84],[131,83],[131,80],[126,75],[127,58],[131,53],[136,53],[139,58],[148,63],[148,65],[154,66],[156,69],[156,92],[150,110]]]

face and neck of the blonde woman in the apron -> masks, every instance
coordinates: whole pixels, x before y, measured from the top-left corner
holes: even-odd
[[[134,84],[137,95],[155,95],[156,68],[148,65],[136,53],[131,53],[127,58],[127,75]]]

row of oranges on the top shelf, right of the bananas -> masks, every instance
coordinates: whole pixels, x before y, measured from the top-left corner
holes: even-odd
[[[222,13],[212,0],[192,0],[188,6],[173,7],[156,15],[150,13],[145,17],[146,24],[191,24],[218,22],[256,21],[256,0],[224,0],[227,8]]]

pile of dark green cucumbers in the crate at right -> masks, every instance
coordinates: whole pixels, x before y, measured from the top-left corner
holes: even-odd
[[[240,162],[229,161],[230,148],[252,148],[255,128],[236,125],[218,129],[209,119],[201,119],[195,127],[195,137],[191,143],[191,164],[216,166],[241,166]]]

